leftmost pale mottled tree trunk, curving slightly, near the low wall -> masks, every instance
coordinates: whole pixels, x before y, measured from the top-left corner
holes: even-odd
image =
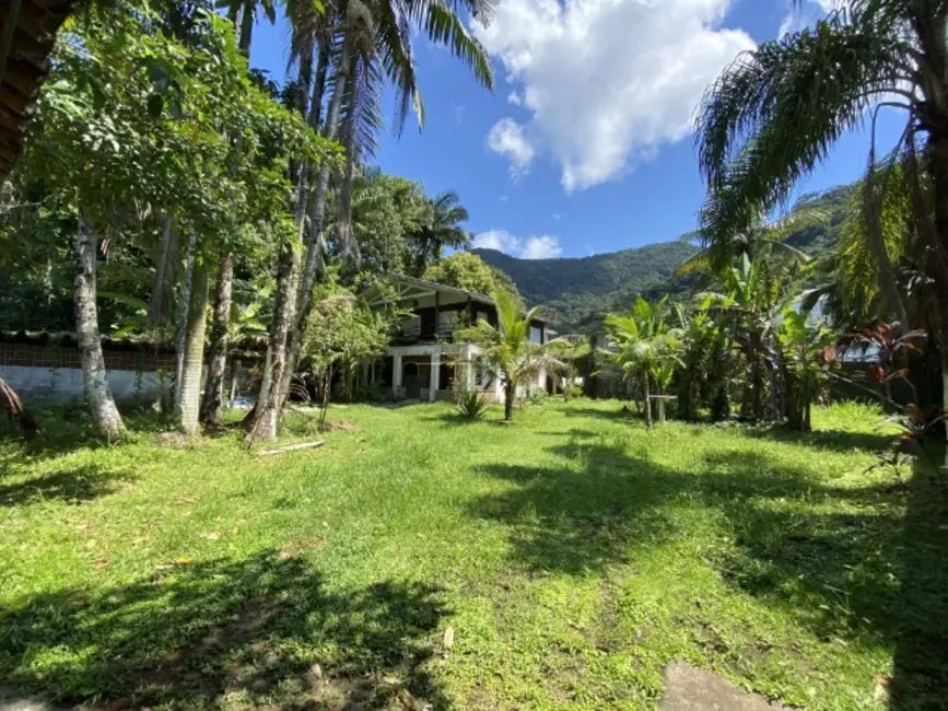
[[[92,419],[100,432],[109,440],[121,436],[125,426],[105,371],[102,338],[98,334],[96,306],[95,256],[96,238],[85,220],[79,220],[75,240],[75,339],[82,362],[82,382]]]

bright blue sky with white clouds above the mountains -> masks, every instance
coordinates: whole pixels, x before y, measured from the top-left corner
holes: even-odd
[[[705,189],[692,117],[741,51],[814,22],[834,0],[499,0],[489,26],[494,90],[416,37],[422,131],[386,129],[375,162],[455,190],[475,246],[530,259],[585,257],[694,230]],[[284,22],[258,23],[251,65],[281,81]],[[391,116],[390,106],[386,116]],[[394,123],[394,121],[393,121]],[[878,143],[900,132],[883,116]],[[843,137],[797,195],[856,179],[868,131]]]

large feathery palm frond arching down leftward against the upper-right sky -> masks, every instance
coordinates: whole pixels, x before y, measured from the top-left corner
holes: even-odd
[[[709,89],[698,115],[698,152],[711,197],[702,232],[728,243],[759,211],[784,201],[830,147],[883,97],[903,95],[912,48],[898,33],[831,15],[741,55]]]

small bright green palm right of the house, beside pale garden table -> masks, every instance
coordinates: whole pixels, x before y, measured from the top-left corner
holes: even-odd
[[[654,395],[660,396],[680,362],[681,334],[665,319],[667,303],[668,296],[653,304],[640,295],[630,313],[609,314],[605,319],[606,329],[617,348],[612,360],[625,377],[639,380],[645,423],[649,428],[653,388]]]

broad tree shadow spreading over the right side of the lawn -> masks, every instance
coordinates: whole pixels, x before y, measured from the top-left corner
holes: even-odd
[[[676,527],[676,506],[707,509],[727,522],[728,543],[711,546],[703,561],[726,584],[780,607],[826,643],[890,645],[891,708],[944,708],[948,496],[939,483],[918,476],[896,490],[833,487],[766,452],[741,450],[677,470],[604,438],[549,451],[562,466],[481,467],[515,486],[470,509],[510,526],[512,555],[528,569],[601,572],[634,557],[636,546],[689,535]],[[739,666],[740,654],[726,662],[734,660]]]

